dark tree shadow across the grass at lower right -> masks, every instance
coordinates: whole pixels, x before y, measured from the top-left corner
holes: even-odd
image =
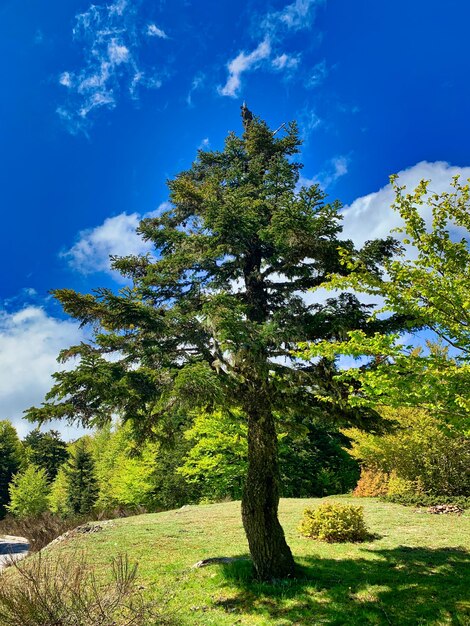
[[[470,554],[463,549],[364,550],[367,558],[304,557],[298,578],[252,580],[249,561],[222,566],[225,611],[276,624],[470,624]],[[228,587],[229,585],[227,585]]]

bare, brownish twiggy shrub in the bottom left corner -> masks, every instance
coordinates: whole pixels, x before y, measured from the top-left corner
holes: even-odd
[[[137,565],[112,561],[112,581],[98,583],[83,555],[60,559],[39,555],[15,562],[0,577],[2,626],[150,626],[170,624],[143,598]]]

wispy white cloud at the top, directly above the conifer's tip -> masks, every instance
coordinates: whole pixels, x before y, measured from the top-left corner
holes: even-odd
[[[236,98],[242,87],[242,75],[264,67],[277,72],[289,72],[298,67],[299,53],[279,49],[289,32],[310,29],[315,20],[315,10],[325,0],[295,0],[280,11],[273,11],[260,20],[263,39],[251,52],[242,50],[227,63],[228,76],[224,85],[218,87],[222,96]]]

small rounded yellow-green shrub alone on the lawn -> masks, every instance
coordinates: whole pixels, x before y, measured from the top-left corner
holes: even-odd
[[[305,509],[299,527],[302,535],[328,541],[365,541],[370,535],[362,506],[325,502],[316,509]]]

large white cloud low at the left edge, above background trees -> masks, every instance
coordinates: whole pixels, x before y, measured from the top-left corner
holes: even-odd
[[[9,313],[0,309],[0,419],[10,419],[24,436],[33,426],[21,419],[23,411],[38,406],[52,386],[51,374],[59,370],[59,351],[85,338],[77,323],[49,316],[39,306]],[[79,431],[64,424],[64,436]]]

